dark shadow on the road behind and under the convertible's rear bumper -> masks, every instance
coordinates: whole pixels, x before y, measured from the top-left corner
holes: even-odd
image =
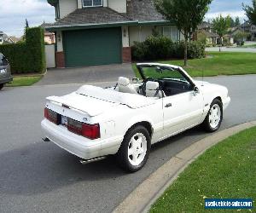
[[[80,164],[79,158],[51,142],[35,144],[0,154],[0,192],[47,193],[79,181],[99,181],[125,176],[115,158]]]

